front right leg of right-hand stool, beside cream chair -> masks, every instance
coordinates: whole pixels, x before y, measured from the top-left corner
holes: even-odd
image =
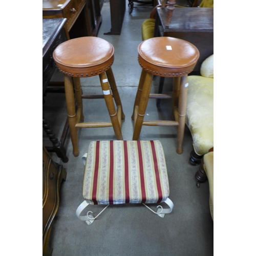
[[[186,106],[187,106],[187,75],[181,77],[180,83],[180,95],[179,95],[179,117],[178,117],[178,145],[177,153],[182,154],[182,143],[185,130],[185,118],[186,118]]]

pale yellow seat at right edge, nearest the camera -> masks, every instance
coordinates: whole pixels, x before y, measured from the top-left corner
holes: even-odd
[[[205,172],[209,181],[210,191],[210,212],[212,220],[214,219],[214,152],[204,155]]]

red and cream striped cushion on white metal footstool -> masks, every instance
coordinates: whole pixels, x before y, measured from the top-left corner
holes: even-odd
[[[89,204],[160,203],[169,196],[160,141],[92,141],[83,177]]]

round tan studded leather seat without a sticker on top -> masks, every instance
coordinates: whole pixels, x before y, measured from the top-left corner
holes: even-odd
[[[78,37],[62,42],[54,50],[53,58],[62,73],[93,76],[112,65],[114,47],[99,37]]]

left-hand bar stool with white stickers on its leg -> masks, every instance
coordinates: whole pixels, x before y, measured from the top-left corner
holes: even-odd
[[[53,58],[59,71],[65,76],[65,94],[74,156],[77,157],[79,155],[77,139],[78,127],[92,128],[113,126],[116,138],[122,140],[121,119],[124,119],[125,116],[111,69],[114,61],[114,47],[108,41],[99,37],[79,37],[60,44],[54,50]],[[80,77],[96,75],[99,75],[103,94],[82,95]],[[117,105],[117,111],[113,97]],[[79,121],[83,121],[84,119],[82,99],[95,98],[105,99],[111,122],[80,123]]]

